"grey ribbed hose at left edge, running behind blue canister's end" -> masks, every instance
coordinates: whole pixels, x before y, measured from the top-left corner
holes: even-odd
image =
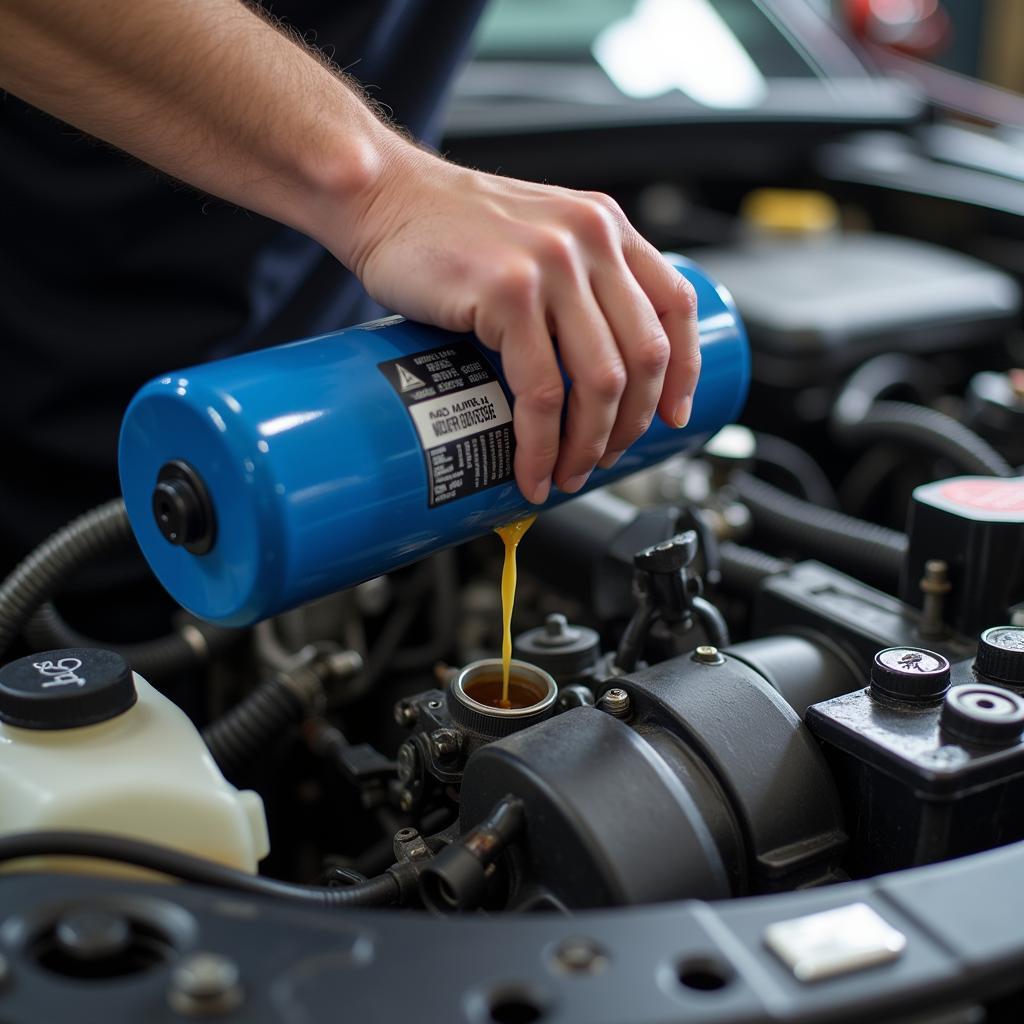
[[[69,575],[132,541],[117,498],[73,519],[27,555],[0,585],[0,655]]]

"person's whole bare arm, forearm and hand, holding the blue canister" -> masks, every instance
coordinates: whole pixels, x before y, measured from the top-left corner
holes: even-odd
[[[516,480],[583,486],[689,418],[693,292],[609,199],[449,164],[240,0],[0,0],[0,87],[311,236],[384,306],[501,352]],[[572,382],[564,399],[552,336]]]

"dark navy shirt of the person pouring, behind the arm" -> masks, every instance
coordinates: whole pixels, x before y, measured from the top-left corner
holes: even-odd
[[[416,136],[484,0],[275,0]],[[0,571],[119,493],[117,435],[164,371],[367,318],[316,243],[197,194],[0,93]]]

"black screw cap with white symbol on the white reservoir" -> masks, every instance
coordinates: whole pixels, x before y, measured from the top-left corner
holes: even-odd
[[[94,725],[135,700],[131,669],[112,650],[47,650],[0,669],[0,721],[23,729]]]

